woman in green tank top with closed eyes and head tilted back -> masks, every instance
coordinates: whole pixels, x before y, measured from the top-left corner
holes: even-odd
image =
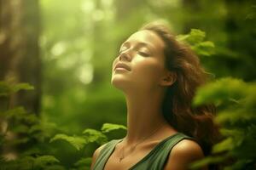
[[[151,23],[132,34],[111,80],[125,94],[127,133],[99,147],[91,169],[183,170],[208,155],[217,134],[212,107],[191,106],[205,79],[199,59],[166,26]]]

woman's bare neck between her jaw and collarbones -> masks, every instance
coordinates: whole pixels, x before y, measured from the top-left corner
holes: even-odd
[[[158,128],[168,124],[162,116],[162,98],[163,95],[159,92],[125,94],[127,106],[125,139],[128,144],[136,144]]]

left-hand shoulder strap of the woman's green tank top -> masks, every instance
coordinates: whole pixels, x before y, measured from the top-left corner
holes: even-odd
[[[96,159],[93,170],[103,169],[105,163],[108,161],[108,157],[112,154],[113,149],[116,144],[118,144],[122,139],[113,139],[109,141],[100,151],[99,156]]]

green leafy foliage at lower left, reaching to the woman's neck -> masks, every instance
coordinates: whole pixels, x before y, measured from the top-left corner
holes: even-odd
[[[3,82],[5,88],[2,88],[2,94],[12,94],[7,93],[10,91],[8,83]],[[30,87],[29,85],[24,86],[24,83],[19,86],[19,84],[14,87],[20,87],[19,89],[25,89]],[[16,88],[18,89],[18,88]],[[31,88],[29,88],[31,89]],[[8,96],[4,96],[8,97]],[[36,144],[30,145],[26,150],[20,150],[20,156],[15,160],[7,160],[4,157],[1,157],[0,165],[4,169],[54,169],[62,170],[66,169],[64,165],[61,165],[61,161],[55,156],[50,155],[49,143],[56,142],[58,140],[66,141],[68,144],[71,144],[77,151],[85,149],[85,146],[90,143],[96,144],[105,144],[108,142],[108,137],[104,133],[109,133],[120,128],[126,129],[123,125],[105,123],[102,125],[102,131],[98,131],[92,128],[86,128],[82,135],[80,136],[69,136],[65,133],[57,133],[54,137],[51,137],[49,133],[44,131],[52,131],[55,129],[55,125],[50,122],[43,122],[38,119],[38,116],[35,116],[32,113],[28,113],[24,110],[23,107],[9,108],[6,111],[1,112],[1,116],[4,117],[4,120],[8,122],[8,126],[5,129],[5,132],[1,133],[1,144],[0,146],[6,147],[11,145],[12,147],[18,146],[19,144],[31,144],[32,142],[37,142]],[[11,124],[9,122],[12,122]],[[44,126],[48,128],[44,128]],[[52,128],[52,129],[50,129]],[[6,133],[17,133],[22,134],[19,139],[9,141],[6,138]],[[45,141],[47,141],[45,143]],[[42,146],[44,146],[42,148]],[[48,147],[47,147],[48,146]],[[44,150],[46,148],[46,150]],[[81,157],[79,161],[76,161],[73,164],[74,169],[90,169],[91,157]]]

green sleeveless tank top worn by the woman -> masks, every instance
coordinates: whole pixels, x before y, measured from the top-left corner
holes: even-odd
[[[192,139],[183,133],[175,133],[166,139],[163,139],[159,144],[154,146],[148,155],[144,156],[141,161],[129,168],[129,170],[162,170],[166,165],[167,158],[173,146],[183,139]],[[102,148],[93,170],[103,170],[108,158],[113,153],[115,145],[123,139],[113,139]],[[194,140],[194,139],[192,139]]]

